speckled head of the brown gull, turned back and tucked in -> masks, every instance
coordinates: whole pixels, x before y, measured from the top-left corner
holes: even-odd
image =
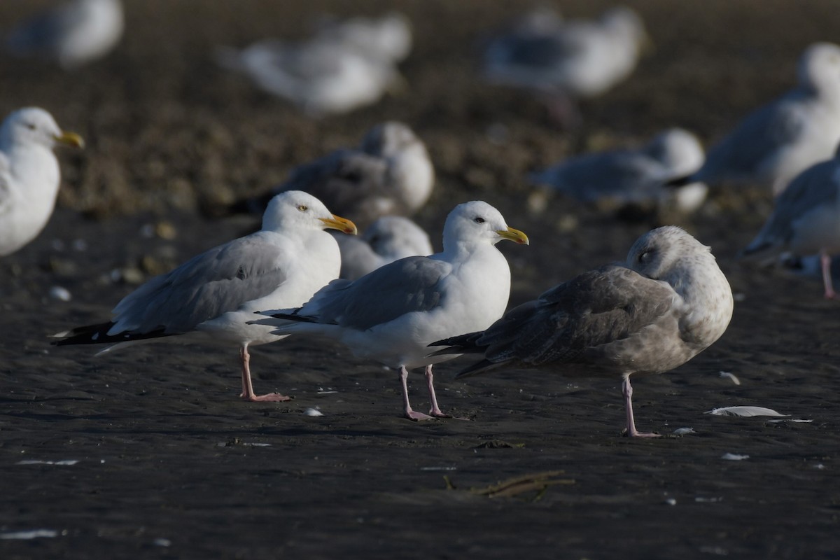
[[[645,233],[627,253],[627,268],[654,280],[664,280],[682,259],[711,256],[709,248],[677,226],[664,226]],[[676,286],[675,286],[676,287]]]

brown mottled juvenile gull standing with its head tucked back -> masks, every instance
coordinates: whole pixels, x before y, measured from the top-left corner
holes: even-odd
[[[633,421],[630,376],[674,369],[721,337],[732,290],[708,247],[681,228],[645,233],[625,264],[607,264],[508,311],[484,332],[439,341],[437,353],[484,353],[466,377],[507,367],[624,379],[627,435]],[[435,353],[435,354],[437,354]]]

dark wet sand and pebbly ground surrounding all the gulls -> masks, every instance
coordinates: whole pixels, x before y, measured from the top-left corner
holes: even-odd
[[[23,4],[0,3],[0,24]],[[694,429],[682,437],[621,437],[619,379],[508,371],[462,383],[453,378],[465,362],[450,362],[438,367],[441,406],[468,420],[418,424],[400,416],[396,374],[318,341],[255,348],[256,390],[295,399],[251,404],[236,398],[236,348],[158,344],[94,358],[47,338],[108,317],[134,288],[113,270],[144,279],[248,231],[255,217],[213,216],[385,118],[430,144],[438,188],[417,219],[438,245],[445,213],[475,198],[529,234],[530,247],[501,249],[512,303],[530,299],[622,259],[659,221],[561,199],[529,214],[526,171],[674,124],[719,138],[790,85],[807,44],[840,41],[836,3],[638,3],[656,50],[630,81],[585,102],[575,135],[550,128],[538,102],[472,81],[471,42],[517,3],[405,3],[417,33],[403,66],[412,95],[321,122],[218,71],[209,54],[301,34],[328,3],[198,4],[129,0],[121,49],[72,76],[0,59],[4,114],[42,105],[90,142],[60,154],[66,186],[45,233],[0,261],[0,535],[58,531],[0,540],[0,557],[840,557],[840,304],[822,300],[818,280],[735,259],[769,210],[759,190],[717,191],[680,221],[740,295],[716,345],[634,383],[638,427]],[[507,143],[487,138],[492,123],[507,126]],[[140,234],[160,222],[176,237]],[[54,285],[72,301],[51,300]],[[420,375],[412,395],[423,410]],[[704,414],[735,405],[811,422]],[[305,416],[309,407],[323,416]],[[77,463],[20,463],[68,460]],[[563,471],[558,484],[481,493],[546,471]]]

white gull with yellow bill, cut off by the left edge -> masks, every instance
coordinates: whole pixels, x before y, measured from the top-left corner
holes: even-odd
[[[38,107],[18,109],[0,126],[0,257],[32,241],[50,220],[61,180],[57,144],[84,145]]]

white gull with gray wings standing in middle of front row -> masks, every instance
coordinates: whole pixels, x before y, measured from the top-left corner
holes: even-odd
[[[431,411],[438,407],[432,365],[454,356],[428,356],[428,344],[455,332],[489,327],[504,313],[511,270],[495,245],[528,244],[508,228],[496,208],[482,201],[459,204],[444,224],[444,252],[407,257],[359,280],[335,280],[293,312],[263,311],[277,334],[310,333],[344,343],[354,355],[399,369],[405,416],[426,420],[408,401],[408,370],[425,366]],[[268,307],[265,307],[268,309]],[[291,310],[290,310],[291,311]]]

